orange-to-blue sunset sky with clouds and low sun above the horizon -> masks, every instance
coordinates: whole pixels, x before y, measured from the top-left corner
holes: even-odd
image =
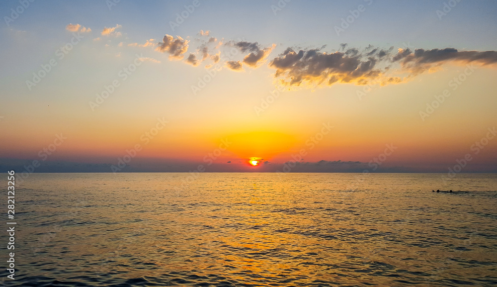
[[[0,172],[497,172],[495,0],[0,10]]]

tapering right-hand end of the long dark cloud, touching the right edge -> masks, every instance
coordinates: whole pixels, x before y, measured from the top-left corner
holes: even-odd
[[[445,49],[399,49],[392,62],[400,62],[403,69],[413,75],[429,71],[445,63],[469,64],[476,62],[482,65],[497,63],[497,51],[458,51],[454,48]]]

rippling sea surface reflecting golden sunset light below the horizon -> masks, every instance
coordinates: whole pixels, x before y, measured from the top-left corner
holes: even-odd
[[[497,285],[496,174],[188,176],[31,174],[1,286]]]

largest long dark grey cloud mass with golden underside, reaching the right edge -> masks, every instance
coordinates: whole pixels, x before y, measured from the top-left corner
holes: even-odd
[[[497,51],[458,51],[445,49],[381,49],[372,45],[363,50],[340,44],[340,50],[326,53],[320,49],[306,49],[298,52],[287,48],[269,63],[275,68],[275,77],[289,86],[305,83],[311,86],[332,85],[334,83],[355,83],[366,85],[397,84],[449,62],[463,64],[476,62],[483,65],[497,63]],[[393,64],[400,63],[400,69]],[[397,74],[397,75],[396,75]],[[404,76],[399,76],[404,74]]]

